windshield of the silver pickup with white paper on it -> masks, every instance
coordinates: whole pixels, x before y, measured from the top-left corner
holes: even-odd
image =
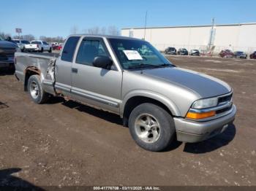
[[[136,39],[108,39],[124,69],[173,66],[151,44]]]

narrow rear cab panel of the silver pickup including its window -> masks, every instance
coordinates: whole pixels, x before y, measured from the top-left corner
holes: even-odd
[[[63,95],[67,95],[69,97],[72,96],[71,66],[79,39],[80,36],[70,36],[69,39],[67,39],[67,42],[61,52],[61,56],[57,59],[55,66],[55,88]]]

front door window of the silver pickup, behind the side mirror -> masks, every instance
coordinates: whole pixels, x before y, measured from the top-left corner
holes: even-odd
[[[108,56],[105,44],[98,39],[83,39],[75,62],[93,66],[94,58],[99,55]]]

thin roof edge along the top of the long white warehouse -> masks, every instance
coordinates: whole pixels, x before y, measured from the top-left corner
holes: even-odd
[[[235,24],[219,24],[214,26],[244,26],[244,25],[256,25],[255,23],[235,23]],[[201,26],[156,26],[156,27],[146,27],[146,29],[151,28],[187,28],[187,27],[211,27],[211,25],[201,25]],[[134,28],[121,28],[121,30],[129,30],[129,29],[145,29],[145,27],[134,27]]]

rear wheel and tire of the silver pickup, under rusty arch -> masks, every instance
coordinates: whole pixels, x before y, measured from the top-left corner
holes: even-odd
[[[42,90],[42,85],[38,75],[29,77],[28,90],[31,99],[36,104],[43,104],[48,101],[49,94]]]

